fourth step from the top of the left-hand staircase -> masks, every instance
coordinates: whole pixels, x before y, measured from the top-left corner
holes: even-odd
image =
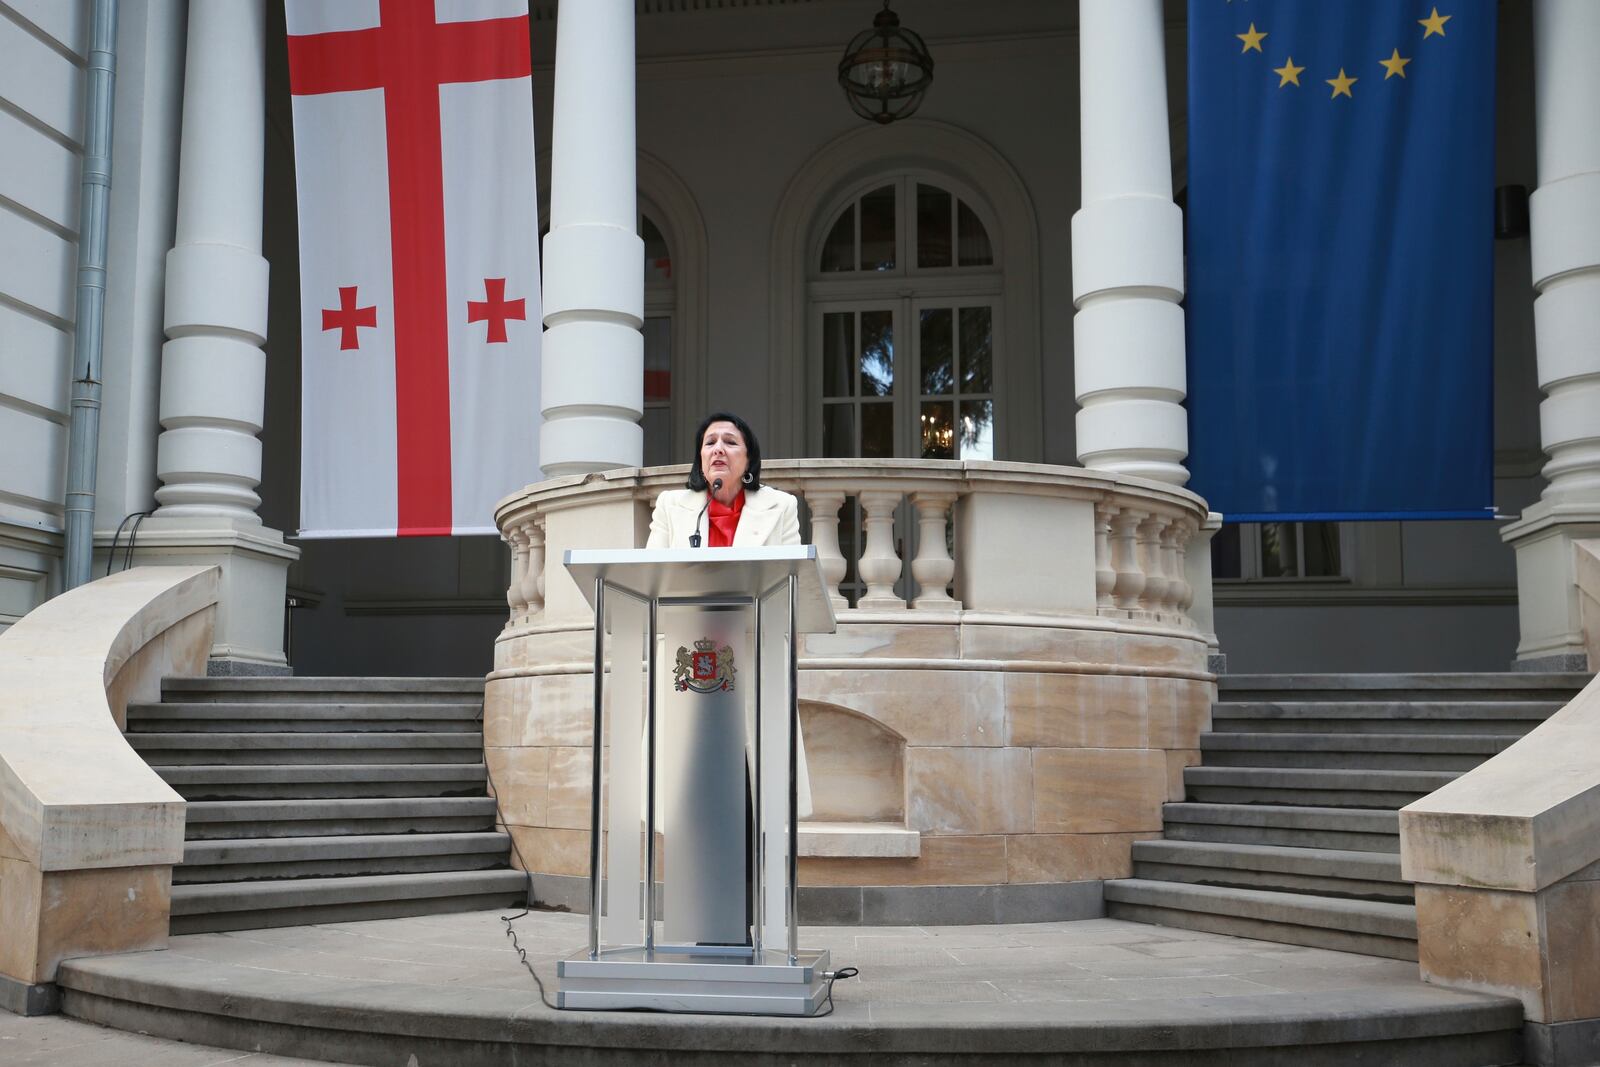
[[[184,800],[315,800],[358,797],[483,797],[482,763],[317,763],[162,766]]]

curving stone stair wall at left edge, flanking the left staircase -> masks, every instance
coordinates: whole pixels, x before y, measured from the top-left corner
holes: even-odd
[[[184,800],[122,736],[203,675],[219,569],[139,566],[0,633],[0,1006],[53,1009],[61,960],[166,945]]]

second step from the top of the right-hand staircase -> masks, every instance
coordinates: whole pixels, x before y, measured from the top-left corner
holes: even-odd
[[[1560,701],[1224,701],[1213,733],[1525,734]]]

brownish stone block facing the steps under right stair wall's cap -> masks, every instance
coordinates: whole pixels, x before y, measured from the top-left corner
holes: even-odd
[[[1531,893],[1419,885],[1416,933],[1424,981],[1515,997],[1530,1019],[1550,1021]]]

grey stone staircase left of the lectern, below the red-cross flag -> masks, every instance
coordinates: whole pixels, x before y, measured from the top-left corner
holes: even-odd
[[[128,742],[189,801],[171,933],[509,907],[475,678],[174,678]]]

